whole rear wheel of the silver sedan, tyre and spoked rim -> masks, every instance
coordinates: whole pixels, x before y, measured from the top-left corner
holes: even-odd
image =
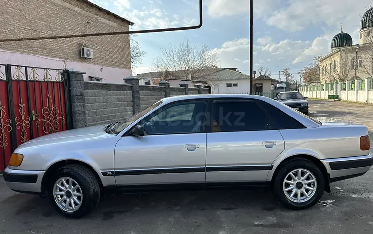
[[[301,170],[301,180],[298,180],[297,176],[299,169]],[[302,180],[308,172],[309,175],[307,176],[307,178],[304,178],[305,180]],[[293,179],[290,173],[293,173],[293,176],[296,180]],[[286,164],[282,165],[279,168],[278,173],[274,176],[275,179],[273,181],[272,191],[280,204],[288,209],[301,210],[310,208],[320,200],[324,192],[324,175],[313,162],[307,159],[291,159],[290,161],[286,162]],[[305,184],[305,182],[312,181],[312,178],[315,180],[315,182]],[[291,179],[291,182],[294,181],[295,183],[292,185],[290,183],[285,183],[285,179],[286,181],[290,181]],[[293,189],[291,189],[291,186],[293,186]],[[290,190],[288,192],[285,192],[286,188]],[[312,191],[307,188],[316,189]],[[307,193],[308,197],[306,197],[306,194],[302,192],[303,190],[305,191],[305,193]],[[300,200],[298,191],[300,191]],[[287,193],[287,195],[285,193]]]

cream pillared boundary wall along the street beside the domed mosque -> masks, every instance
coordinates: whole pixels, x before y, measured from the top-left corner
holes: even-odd
[[[328,99],[329,95],[338,95],[339,100],[373,103],[372,78],[302,86],[299,91],[309,98]]]

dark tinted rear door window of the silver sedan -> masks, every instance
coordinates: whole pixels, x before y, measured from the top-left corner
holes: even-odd
[[[214,103],[212,132],[268,130],[268,120],[254,101],[218,101]]]

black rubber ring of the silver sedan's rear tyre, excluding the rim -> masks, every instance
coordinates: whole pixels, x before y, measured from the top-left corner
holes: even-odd
[[[287,176],[288,173],[295,169],[306,169],[310,171],[316,179],[317,182],[317,188],[316,192],[313,195],[313,197],[305,202],[302,203],[296,203],[290,201],[284,191],[283,191],[283,180]],[[278,199],[278,201],[285,207],[290,208],[290,209],[307,209],[309,207],[312,207],[315,205],[321,198],[324,188],[325,188],[325,181],[324,181],[324,176],[320,169],[311,161],[308,161],[306,159],[298,159],[298,160],[291,160],[287,162],[285,165],[283,165],[279,173],[275,175],[275,181],[273,185],[273,192]]]

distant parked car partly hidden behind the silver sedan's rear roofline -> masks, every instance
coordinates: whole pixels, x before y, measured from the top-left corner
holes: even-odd
[[[275,100],[308,115],[308,97],[303,97],[298,91],[280,92]]]

